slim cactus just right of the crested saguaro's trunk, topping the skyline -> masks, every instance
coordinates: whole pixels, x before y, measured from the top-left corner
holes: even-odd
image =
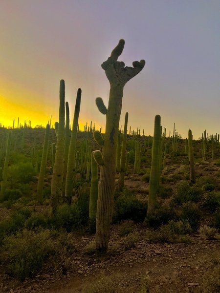
[[[127,141],[127,127],[128,127],[128,112],[125,114],[124,133],[121,147],[121,160],[120,160],[120,174],[118,179],[118,189],[122,190],[125,180],[125,159],[126,159],[126,141]]]

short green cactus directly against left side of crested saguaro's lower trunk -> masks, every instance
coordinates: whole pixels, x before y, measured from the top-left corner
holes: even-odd
[[[89,222],[90,229],[95,228],[97,198],[98,198],[98,164],[94,159],[94,151],[91,153],[91,186],[89,194]]]

